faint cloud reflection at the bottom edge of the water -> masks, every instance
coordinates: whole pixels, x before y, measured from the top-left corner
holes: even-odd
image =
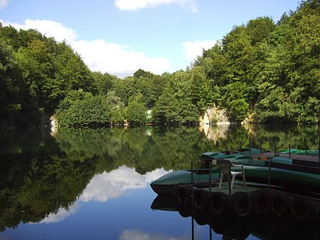
[[[190,238],[176,238],[173,236],[166,236],[164,234],[149,234],[141,230],[124,230],[119,237],[120,240],[182,240]]]

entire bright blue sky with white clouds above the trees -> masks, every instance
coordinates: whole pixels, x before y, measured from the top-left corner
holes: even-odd
[[[0,0],[4,26],[67,40],[90,67],[118,77],[186,69],[233,26],[278,21],[297,0]]]

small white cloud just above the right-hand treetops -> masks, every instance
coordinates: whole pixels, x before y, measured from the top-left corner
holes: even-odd
[[[184,57],[188,62],[194,62],[197,56],[202,55],[203,49],[208,50],[213,47],[216,42],[216,40],[196,40],[182,43]]]

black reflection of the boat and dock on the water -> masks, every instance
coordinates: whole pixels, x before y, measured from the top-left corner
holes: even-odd
[[[191,217],[191,221],[194,219],[198,225],[207,224],[210,230],[223,235],[224,239],[246,239],[250,235],[257,239],[320,239],[319,217],[307,221],[266,214],[247,217],[211,214],[192,205],[177,204],[170,195],[157,196],[151,209],[170,210],[178,212],[181,217]]]

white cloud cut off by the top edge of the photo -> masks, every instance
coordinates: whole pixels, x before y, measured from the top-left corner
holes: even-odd
[[[132,11],[165,4],[178,4],[192,12],[198,11],[194,0],[115,0],[114,4],[122,11]]]

